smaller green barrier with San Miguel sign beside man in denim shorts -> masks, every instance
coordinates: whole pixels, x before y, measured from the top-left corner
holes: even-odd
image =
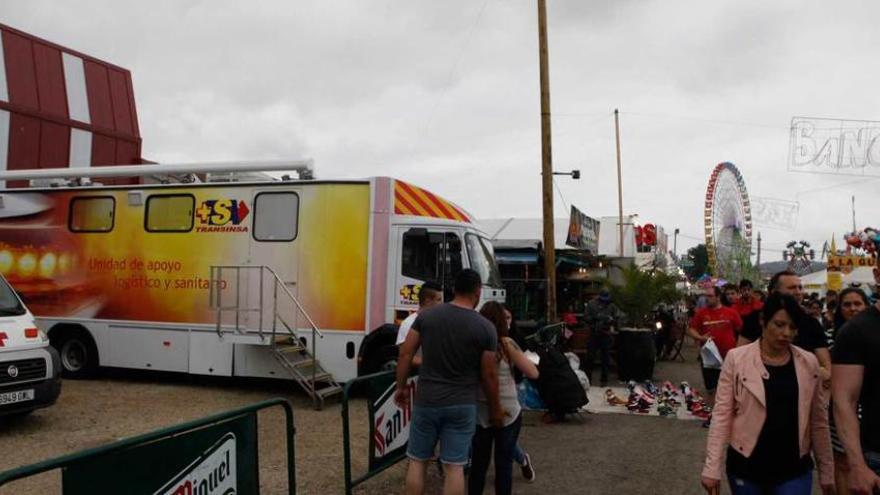
[[[378,475],[406,457],[406,441],[412,417],[412,401],[415,397],[417,376],[407,382],[410,406],[401,409],[394,403],[395,372],[385,371],[365,375],[345,384],[342,392],[342,452],[345,464],[345,493],[350,495],[355,486]],[[367,472],[352,479],[351,430],[349,427],[348,402],[355,391],[367,392],[367,412],[370,421],[369,463]]]

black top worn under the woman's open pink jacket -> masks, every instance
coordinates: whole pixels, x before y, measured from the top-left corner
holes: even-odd
[[[798,438],[798,382],[794,356],[788,364],[766,366],[764,380],[767,418],[752,455],[727,449],[727,471],[753,483],[776,484],[797,478],[813,468],[809,454],[801,457]],[[745,392],[749,393],[749,392]]]

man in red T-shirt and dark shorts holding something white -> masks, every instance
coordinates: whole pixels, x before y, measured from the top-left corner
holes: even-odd
[[[713,287],[706,290],[706,307],[698,309],[688,325],[688,335],[703,346],[709,338],[718,346],[723,359],[727,351],[736,346],[736,336],[742,329],[742,318],[733,308],[721,305],[721,289]],[[703,384],[709,404],[715,402],[715,388],[718,387],[720,369],[703,368]]]

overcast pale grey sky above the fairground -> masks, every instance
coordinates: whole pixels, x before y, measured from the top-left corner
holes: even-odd
[[[624,209],[680,228],[679,252],[722,161],[800,203],[796,230],[757,228],[762,261],[850,230],[851,195],[880,224],[880,180],[787,171],[793,116],[880,120],[880,3],[548,4],[554,168],[582,173],[557,217],[616,214],[619,108]],[[311,157],[478,218],[541,214],[534,0],[0,0],[0,22],[131,70],[149,159]]]

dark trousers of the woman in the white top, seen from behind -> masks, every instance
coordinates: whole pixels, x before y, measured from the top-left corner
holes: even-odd
[[[474,433],[471,472],[468,477],[470,495],[483,493],[483,488],[486,486],[486,471],[489,470],[489,458],[492,455],[492,444],[495,445],[495,493],[508,495],[512,492],[513,451],[521,426],[522,414],[504,428],[477,426],[477,432]]]

